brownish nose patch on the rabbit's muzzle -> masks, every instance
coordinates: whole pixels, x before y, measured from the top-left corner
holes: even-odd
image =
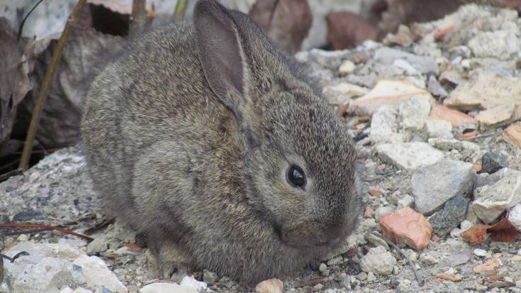
[[[331,235],[318,221],[301,223],[282,233],[282,241],[291,246],[318,246],[329,243]]]

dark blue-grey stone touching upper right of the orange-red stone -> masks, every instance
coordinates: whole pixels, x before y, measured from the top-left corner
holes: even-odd
[[[453,228],[459,226],[466,217],[469,201],[470,199],[458,195],[449,199],[441,211],[430,216],[429,223],[437,236],[445,237]]]

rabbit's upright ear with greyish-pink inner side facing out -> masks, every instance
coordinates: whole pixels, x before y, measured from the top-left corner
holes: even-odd
[[[230,13],[217,1],[198,1],[194,27],[199,60],[206,81],[220,101],[237,118],[247,98],[245,55],[237,26]]]

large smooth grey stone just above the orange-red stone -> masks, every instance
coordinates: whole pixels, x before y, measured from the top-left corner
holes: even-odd
[[[469,162],[445,159],[421,167],[411,178],[416,209],[431,214],[456,195],[471,194],[475,181],[476,172]]]

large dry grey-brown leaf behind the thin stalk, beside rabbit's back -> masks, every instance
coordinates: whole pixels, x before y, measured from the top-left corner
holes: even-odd
[[[91,80],[121,48],[123,42],[124,39],[121,37],[102,34],[93,28],[75,28],[72,31],[47,91],[47,101],[36,133],[36,141],[44,148],[55,148],[79,141],[79,120]],[[56,44],[57,40],[38,40],[33,45],[34,50],[38,52],[34,55],[29,54],[30,63],[34,62],[31,78],[34,89],[18,105],[16,125],[13,128],[13,134],[16,136],[25,136],[40,85]],[[47,48],[40,53],[40,47]]]

